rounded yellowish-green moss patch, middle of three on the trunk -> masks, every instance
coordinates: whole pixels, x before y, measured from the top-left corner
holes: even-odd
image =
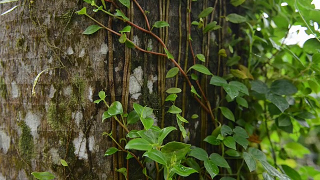
[[[55,103],[50,102],[48,113],[47,113],[47,123],[53,130],[65,131],[67,123],[70,121],[70,111],[64,102]],[[63,134],[61,134],[63,135]]]

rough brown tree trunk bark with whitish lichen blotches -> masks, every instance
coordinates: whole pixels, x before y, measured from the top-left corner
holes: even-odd
[[[131,9],[115,2],[126,11],[131,21],[146,27],[132,1]],[[170,27],[152,31],[159,34],[182,67],[188,65],[186,70],[193,64],[190,50],[186,50],[189,47],[185,25],[187,5],[191,0],[138,2],[143,9],[150,11],[147,14],[150,24],[157,20],[168,21]],[[113,169],[125,166],[123,156],[126,154],[103,156],[112,142],[110,138],[102,137],[102,132],[110,132],[113,126],[117,139],[122,132],[114,120],[101,122],[105,106],[92,102],[98,98],[100,90],[106,91],[108,102],[121,101],[127,112],[132,110],[133,102],[156,109],[154,116],[161,126],[176,125],[175,118],[164,114],[161,108],[170,105],[164,103],[165,89],[177,85],[183,89],[177,99],[177,106],[184,103],[182,115],[186,118],[193,113],[200,115],[185,124],[191,133],[190,139],[184,141],[200,146],[203,135],[212,130],[212,121],[201,113],[183,77],[164,79],[173,63],[164,57],[128,49],[118,42],[118,36],[108,34],[104,29],[92,35],[82,34],[88,25],[95,23],[74,12],[86,6],[88,14],[106,26],[111,24],[116,31],[127,25],[125,22],[109,19],[102,12],[93,13],[92,7],[82,0],[34,0],[32,4],[17,1],[0,4],[0,11],[15,3],[25,3],[25,6],[0,16],[0,179],[32,179],[32,171],[51,171],[58,179],[122,178],[114,174]],[[97,4],[100,3],[98,0]],[[218,16],[225,14],[225,3],[219,0],[214,15],[208,19],[218,21],[222,29],[203,35],[196,26],[191,28],[194,53],[208,56],[209,69],[219,75],[225,73],[225,69],[217,49],[224,43],[226,28]],[[192,2],[190,20],[196,20],[204,7],[214,4],[215,0]],[[163,51],[156,39],[138,29],[132,30],[128,36],[136,45]],[[32,96],[33,80],[44,69],[47,70],[40,75],[35,96]],[[209,79],[198,75],[214,107],[219,90],[207,88],[204,82]],[[172,140],[180,140],[179,132],[170,135]],[[60,159],[68,162],[71,171],[60,164]],[[141,169],[134,160],[129,162],[136,167],[130,171],[130,177],[142,178],[134,177],[134,172]]]

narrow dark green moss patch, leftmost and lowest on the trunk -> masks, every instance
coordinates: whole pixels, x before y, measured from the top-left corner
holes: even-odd
[[[21,135],[19,137],[19,153],[20,156],[26,161],[30,162],[31,158],[33,157],[33,136],[31,135],[30,128],[25,124],[23,120],[18,122],[18,126],[21,128]]]

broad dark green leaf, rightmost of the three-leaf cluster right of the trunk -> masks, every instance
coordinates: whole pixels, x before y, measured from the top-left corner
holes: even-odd
[[[291,95],[297,92],[296,87],[290,81],[285,79],[273,81],[270,90],[276,95]]]

